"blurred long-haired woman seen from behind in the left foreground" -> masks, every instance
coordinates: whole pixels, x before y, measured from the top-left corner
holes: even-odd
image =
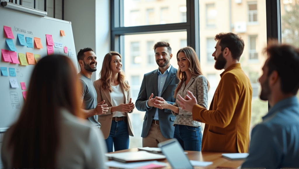
[[[77,118],[82,115],[76,72],[62,55],[36,64],[19,119],[4,135],[4,168],[106,168],[103,136]]]

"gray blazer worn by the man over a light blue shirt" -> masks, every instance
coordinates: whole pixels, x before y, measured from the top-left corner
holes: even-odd
[[[173,95],[179,83],[179,79],[176,77],[177,71],[178,70],[176,68],[171,66],[161,93],[161,97],[163,97],[163,99],[172,105],[176,102],[176,99],[173,97]],[[156,108],[147,108],[146,106],[147,100],[152,93],[154,94],[153,98],[158,96],[158,69],[144,74],[138,98],[136,100],[135,106],[137,110],[146,111],[144,115],[141,137],[147,136],[149,128],[152,124],[152,120],[155,116]],[[173,116],[172,111],[170,109],[158,109],[158,116],[162,135],[168,139],[173,138],[174,126],[172,126],[172,124],[176,117]]]

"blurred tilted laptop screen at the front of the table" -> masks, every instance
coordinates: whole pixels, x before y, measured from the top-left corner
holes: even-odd
[[[158,144],[162,153],[166,156],[167,161],[172,168],[186,168],[193,169],[187,155],[177,139],[170,139]]]

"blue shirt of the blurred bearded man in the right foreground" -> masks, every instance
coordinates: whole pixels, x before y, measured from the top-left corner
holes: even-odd
[[[249,156],[242,168],[299,168],[299,102],[277,102],[252,129]]]

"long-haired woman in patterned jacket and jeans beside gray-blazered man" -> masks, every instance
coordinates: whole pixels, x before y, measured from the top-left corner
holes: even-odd
[[[176,54],[179,65],[177,77],[180,82],[175,90],[174,96],[185,97],[190,90],[197,99],[197,103],[205,108],[208,107],[208,90],[210,84],[205,76],[202,75],[199,60],[191,47],[181,48]],[[176,102],[171,105],[161,97],[156,97],[155,105],[160,109],[170,109],[176,116],[173,125],[175,126],[174,138],[178,139],[184,150],[201,151],[202,133],[200,122],[192,119],[192,112],[188,112],[179,107]]]

